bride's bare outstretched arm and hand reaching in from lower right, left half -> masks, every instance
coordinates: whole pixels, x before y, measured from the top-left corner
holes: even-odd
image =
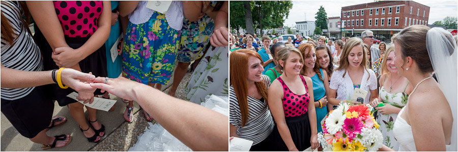
[[[221,113],[123,77],[109,79],[107,84],[104,84],[104,78],[97,78],[94,82],[91,86],[137,101],[159,124],[192,150],[228,150],[228,118]]]

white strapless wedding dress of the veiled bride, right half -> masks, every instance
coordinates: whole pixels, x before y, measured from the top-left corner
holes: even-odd
[[[413,138],[412,127],[403,118],[400,117],[401,113],[404,111],[404,108],[406,108],[406,106],[399,111],[397,114],[396,122],[394,122],[394,138],[396,138],[399,142],[398,151],[417,151]],[[445,145],[445,149],[447,151],[452,151],[452,146]]]

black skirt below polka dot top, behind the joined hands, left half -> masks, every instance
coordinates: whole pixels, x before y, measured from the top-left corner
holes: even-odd
[[[38,46],[42,52],[43,56],[43,68],[44,70],[58,69],[59,66],[55,65],[54,60],[51,58],[52,48],[49,46],[49,43],[44,38],[43,34],[35,28],[36,33],[34,35],[35,40],[37,40]],[[77,49],[84,45],[89,40],[90,37],[65,37],[65,41],[70,48]],[[84,73],[92,72],[96,77],[107,77],[106,72],[106,54],[105,54],[105,44],[96,50],[94,53],[79,61],[79,67]],[[57,100],[60,106],[65,106],[70,103],[77,102],[72,98],[67,97],[68,94],[76,92],[71,88],[62,89],[58,84],[50,84],[46,86],[49,90],[48,94],[52,97],[53,100]],[[95,95],[102,95],[100,89],[97,89],[94,92]]]

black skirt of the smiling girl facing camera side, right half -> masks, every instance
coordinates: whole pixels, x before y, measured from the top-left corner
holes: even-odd
[[[291,138],[296,148],[299,151],[304,151],[306,148],[310,147],[311,130],[308,112],[301,116],[285,117],[284,119],[288,125],[288,129],[290,129]],[[272,134],[272,151],[289,151],[278,132],[277,125],[275,125]]]

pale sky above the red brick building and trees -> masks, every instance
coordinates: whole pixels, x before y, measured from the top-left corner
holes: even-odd
[[[346,6],[372,3],[374,1],[293,1],[293,8],[290,10],[288,19],[283,25],[294,26],[299,21],[314,21],[315,14],[322,5],[328,17],[340,16],[340,9]],[[441,21],[446,16],[457,17],[458,1],[414,1],[430,7],[430,18],[428,24]]]

